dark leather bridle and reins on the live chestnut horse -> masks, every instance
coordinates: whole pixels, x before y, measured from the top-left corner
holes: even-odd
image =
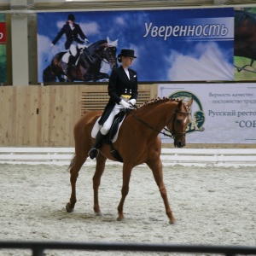
[[[166,126],[167,126],[167,125],[169,125],[169,124],[172,122],[172,131],[169,130],[168,128],[166,128],[166,127],[163,129],[164,131],[159,131],[158,129],[154,128],[153,126],[148,125],[148,123],[146,123],[145,121],[143,121],[143,119],[140,119],[139,117],[137,117],[137,115],[136,115],[135,113],[133,113],[131,110],[132,110],[132,109],[127,108],[127,111],[128,111],[129,113],[131,113],[135,119],[137,119],[139,122],[141,122],[143,125],[145,125],[145,126],[148,127],[149,129],[151,129],[151,130],[153,130],[153,131],[156,131],[157,133],[160,133],[160,134],[162,134],[162,135],[164,135],[164,136],[166,136],[166,137],[175,138],[175,135],[176,135],[176,134],[182,134],[182,135],[185,135],[185,134],[186,134],[186,132],[175,132],[175,131],[174,131],[174,123],[175,123],[175,120],[176,120],[176,114],[177,114],[177,113],[186,113],[186,114],[189,114],[189,113],[190,113],[189,111],[179,111],[179,110],[176,109],[176,110],[174,111],[172,117],[170,118],[170,120],[169,120],[169,121],[167,122],[167,124],[166,124]],[[168,133],[166,133],[165,131],[168,132]]]

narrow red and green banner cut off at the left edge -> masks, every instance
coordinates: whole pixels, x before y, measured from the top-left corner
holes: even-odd
[[[0,83],[6,82],[6,28],[5,15],[0,14]]]

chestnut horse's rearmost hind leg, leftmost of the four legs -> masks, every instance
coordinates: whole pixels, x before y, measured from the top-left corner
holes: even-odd
[[[71,195],[70,195],[70,201],[66,205],[67,212],[73,212],[73,208],[75,206],[75,203],[77,202],[76,197],[76,183],[77,179],[79,177],[79,171],[81,167],[84,165],[84,162],[86,160],[86,155],[75,155],[73,159],[73,166],[70,169],[70,183],[71,183]]]

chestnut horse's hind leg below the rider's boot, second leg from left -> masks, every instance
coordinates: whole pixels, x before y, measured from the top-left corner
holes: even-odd
[[[101,216],[102,212],[100,209],[100,204],[99,204],[99,187],[101,185],[101,178],[102,178],[102,173],[105,170],[105,163],[106,163],[107,158],[104,157],[101,153],[96,158],[96,172],[92,178],[93,181],[93,191],[94,191],[94,212],[96,215]]]

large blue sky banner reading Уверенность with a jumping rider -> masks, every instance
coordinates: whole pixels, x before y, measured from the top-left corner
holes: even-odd
[[[38,13],[38,82],[65,81],[59,67],[60,60],[67,58],[56,54],[69,50],[61,30],[68,15],[74,16],[89,40],[87,44],[83,34],[79,37],[84,57],[79,49],[70,67],[74,73],[84,58],[84,66],[79,66],[83,77],[72,77],[67,71],[69,81],[108,81],[110,61],[103,56],[100,64],[94,62],[100,55],[95,45],[107,38],[108,45],[117,48],[116,54],[121,49],[135,50],[137,59],[131,68],[140,82],[234,79],[234,9],[214,8]]]

